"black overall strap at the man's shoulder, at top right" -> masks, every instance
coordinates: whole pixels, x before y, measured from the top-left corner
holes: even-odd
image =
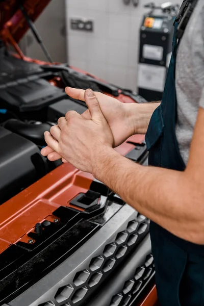
[[[184,35],[184,31],[187,27],[189,19],[196,7],[198,0],[184,0],[179,14],[177,15],[175,22],[179,23],[176,31],[176,38],[181,40]]]

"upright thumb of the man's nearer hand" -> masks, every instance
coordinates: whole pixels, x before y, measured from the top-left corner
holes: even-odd
[[[85,91],[85,101],[86,101],[86,105],[89,109],[89,112],[91,114],[91,119],[92,120],[104,120],[104,115],[101,112],[98,100],[94,94],[94,92],[91,89],[87,89]]]

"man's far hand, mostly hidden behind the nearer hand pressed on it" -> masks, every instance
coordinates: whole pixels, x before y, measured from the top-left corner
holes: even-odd
[[[86,101],[85,90],[66,87],[66,93],[77,100]],[[134,134],[145,134],[150,117],[154,110],[159,106],[157,103],[146,104],[123,104],[117,99],[110,97],[100,92],[94,92],[101,112],[106,118],[114,138],[114,147],[119,146],[127,138]],[[85,119],[90,119],[89,110],[82,114]],[[62,159],[62,162],[67,161],[62,158],[49,146],[42,149],[41,154],[47,156],[50,161]]]

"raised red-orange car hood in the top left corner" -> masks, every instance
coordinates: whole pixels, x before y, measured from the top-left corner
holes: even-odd
[[[11,35],[18,42],[28,31],[29,25],[25,20],[20,5],[35,21],[51,0],[0,0],[0,38],[6,39]]]

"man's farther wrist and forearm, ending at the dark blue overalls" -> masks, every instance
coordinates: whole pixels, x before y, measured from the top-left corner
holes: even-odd
[[[126,104],[128,120],[131,122],[132,133],[145,134],[149,125],[152,113],[160,105],[160,102],[144,104]]]

